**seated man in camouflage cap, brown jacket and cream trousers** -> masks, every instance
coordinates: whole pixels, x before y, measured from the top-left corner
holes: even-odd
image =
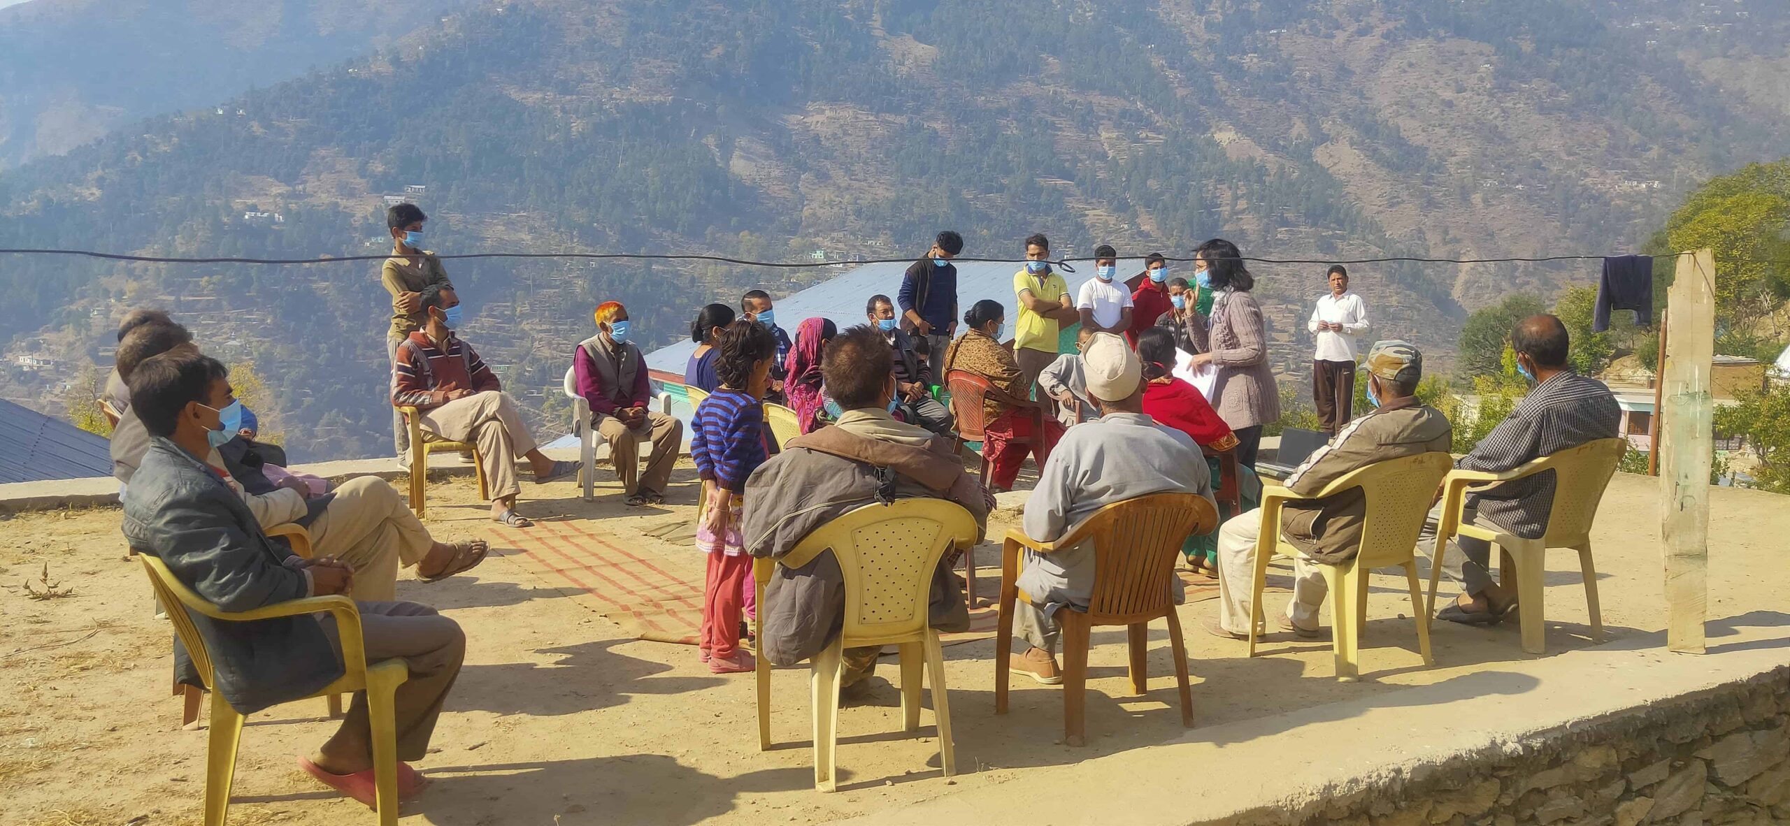
[[[1373,465],[1419,452],[1448,452],[1453,431],[1448,417],[1418,402],[1423,354],[1409,341],[1375,341],[1362,365],[1368,372],[1368,402],[1373,411],[1350,422],[1328,445],[1319,447],[1287,476],[1294,495],[1314,495],[1332,481]],[[1280,536],[1300,551],[1294,558],[1292,601],[1280,628],[1316,636],[1317,610],[1325,604],[1323,570],[1355,556],[1368,502],[1360,488],[1325,499],[1287,502],[1280,513]],[[1242,640],[1249,635],[1249,586],[1255,576],[1255,544],[1262,533],[1257,511],[1228,518],[1219,527],[1219,619],[1206,629]]]

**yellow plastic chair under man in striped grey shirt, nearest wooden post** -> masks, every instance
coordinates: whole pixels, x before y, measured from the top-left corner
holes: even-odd
[[[1498,583],[1516,583],[1516,617],[1523,626],[1523,651],[1547,654],[1547,626],[1541,617],[1543,579],[1547,577],[1547,552],[1550,547],[1570,547],[1579,551],[1579,569],[1584,572],[1584,603],[1591,615],[1591,642],[1604,640],[1604,617],[1597,606],[1597,569],[1591,565],[1591,520],[1597,506],[1604,501],[1604,488],[1616,474],[1616,463],[1629,449],[1624,438],[1600,438],[1579,447],[1543,456],[1502,474],[1482,470],[1453,470],[1443,481],[1443,515],[1436,529],[1436,547],[1446,547],[1450,536],[1473,536],[1498,545],[1500,554]],[[1554,470],[1554,504],[1548,510],[1548,529],[1539,540],[1511,536],[1504,531],[1489,531],[1475,524],[1462,524],[1470,486],[1487,483],[1507,483]],[[1514,570],[1513,570],[1514,569]],[[1441,581],[1441,560],[1430,563],[1430,595],[1423,606],[1423,615],[1436,620],[1436,585]],[[1514,574],[1514,576],[1513,576]]]

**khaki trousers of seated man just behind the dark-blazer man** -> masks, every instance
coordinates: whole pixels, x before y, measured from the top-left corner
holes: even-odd
[[[342,483],[308,533],[315,556],[354,567],[354,599],[369,603],[394,599],[399,563],[415,565],[435,545],[397,490],[376,476]]]

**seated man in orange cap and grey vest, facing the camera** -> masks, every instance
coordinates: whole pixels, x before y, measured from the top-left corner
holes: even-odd
[[[626,504],[664,502],[666,483],[684,447],[684,422],[648,409],[653,392],[646,381],[646,359],[628,341],[628,308],[621,302],[596,308],[596,334],[578,343],[573,377],[578,395],[591,404],[591,427],[609,442]],[[639,476],[643,436],[653,445],[646,456],[646,476]]]

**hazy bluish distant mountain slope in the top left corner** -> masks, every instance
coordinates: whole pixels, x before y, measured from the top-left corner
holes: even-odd
[[[360,57],[465,0],[0,4],[0,170]]]

